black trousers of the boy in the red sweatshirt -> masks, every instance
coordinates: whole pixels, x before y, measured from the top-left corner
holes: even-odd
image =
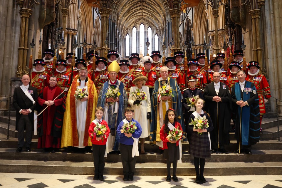
[[[92,144],[93,158],[94,158],[94,175],[103,175],[105,167],[105,152],[106,145]]]

